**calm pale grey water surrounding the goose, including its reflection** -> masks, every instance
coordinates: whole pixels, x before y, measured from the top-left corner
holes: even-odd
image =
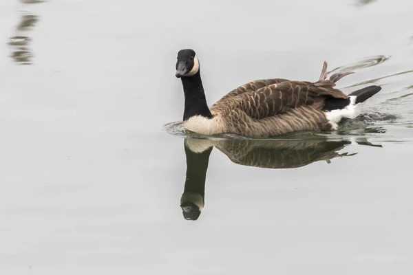
[[[1,1],[1,274],[411,274],[412,8]],[[316,80],[324,60],[356,73],[345,92],[383,89],[341,131],[188,138],[214,146],[194,155],[164,127],[185,47],[210,105],[257,78]]]

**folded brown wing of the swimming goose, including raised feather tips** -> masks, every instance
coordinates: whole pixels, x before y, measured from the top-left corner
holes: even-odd
[[[333,74],[327,80],[326,69],[327,63],[324,62],[320,78],[314,83],[284,78],[251,81],[215,102],[210,108],[211,113],[225,116],[231,111],[241,111],[250,118],[260,120],[304,105],[321,109],[328,97],[348,98],[341,90],[335,89],[335,83],[350,73]]]

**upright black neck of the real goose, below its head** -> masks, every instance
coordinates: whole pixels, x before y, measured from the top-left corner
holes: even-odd
[[[209,111],[207,99],[205,98],[204,87],[202,86],[200,70],[194,76],[182,76],[184,86],[185,109],[184,120],[194,115],[202,115],[205,118],[212,118]]]

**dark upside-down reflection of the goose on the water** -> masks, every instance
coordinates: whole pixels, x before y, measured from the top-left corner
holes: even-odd
[[[366,138],[355,143],[374,145]],[[184,219],[197,220],[204,208],[205,181],[209,156],[213,147],[224,153],[235,164],[260,168],[299,168],[313,162],[326,161],[336,157],[350,157],[357,153],[339,153],[352,144],[350,140],[330,140],[328,138],[300,140],[202,140],[187,138],[184,151],[187,157],[187,177],[180,207]]]

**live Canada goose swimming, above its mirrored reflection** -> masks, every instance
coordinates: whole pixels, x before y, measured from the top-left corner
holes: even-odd
[[[202,135],[231,133],[245,137],[271,137],[294,131],[330,131],[345,118],[359,115],[360,103],[377,94],[369,86],[350,95],[335,83],[351,72],[327,78],[327,63],[317,82],[284,78],[260,79],[237,87],[207,105],[200,75],[200,61],[191,49],[180,50],[176,77],[184,89],[184,129]]]

